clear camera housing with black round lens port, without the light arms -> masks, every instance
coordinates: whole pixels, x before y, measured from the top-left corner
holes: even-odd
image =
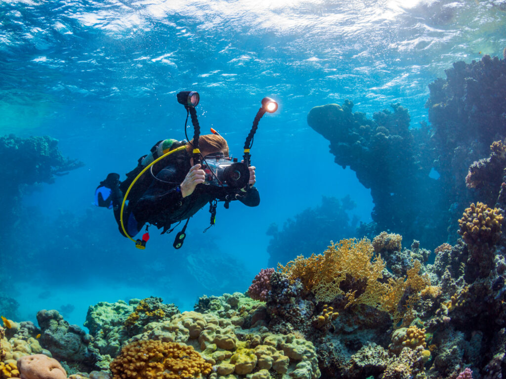
[[[244,188],[249,183],[249,169],[244,163],[237,162],[237,158],[205,157],[202,162],[205,173],[205,184]]]

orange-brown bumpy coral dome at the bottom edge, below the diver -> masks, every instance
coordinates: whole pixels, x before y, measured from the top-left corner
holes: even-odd
[[[124,346],[110,368],[113,379],[183,379],[207,375],[212,366],[191,346],[147,340]]]

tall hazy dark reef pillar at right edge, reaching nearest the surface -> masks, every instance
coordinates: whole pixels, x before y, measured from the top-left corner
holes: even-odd
[[[447,209],[446,215],[439,217],[447,220],[448,240],[454,241],[456,220],[469,203],[477,200],[495,203],[487,191],[496,184],[480,183],[485,179],[481,175],[484,172],[476,173],[468,183],[481,188],[479,195],[485,198],[476,198],[465,187],[463,178],[474,161],[488,156],[493,141],[506,137],[506,60],[485,55],[480,61],[455,62],[445,73],[446,78],[438,78],[429,85],[430,97],[425,106],[433,127],[431,144],[437,150],[434,168],[440,175],[440,188],[444,189],[439,191],[443,194],[439,212]],[[482,161],[479,166],[483,164]],[[470,172],[474,169],[481,171],[475,166]],[[502,169],[496,174],[502,175]],[[492,177],[488,180],[495,181]]]

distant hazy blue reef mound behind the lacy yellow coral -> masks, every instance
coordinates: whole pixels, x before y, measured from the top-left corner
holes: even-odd
[[[350,213],[355,206],[350,196],[341,200],[323,196],[321,205],[303,210],[288,219],[282,228],[271,224],[267,230],[267,235],[272,237],[267,246],[268,266],[276,267],[299,255],[321,251],[328,241],[354,236],[357,218]],[[311,238],[307,238],[308,230]]]

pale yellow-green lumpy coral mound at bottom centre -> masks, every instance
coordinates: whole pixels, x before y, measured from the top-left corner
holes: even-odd
[[[230,379],[261,370],[301,379],[320,376],[313,344],[293,334],[273,334],[265,326],[241,329],[228,319],[197,312],[183,312],[150,326],[133,340],[193,346],[219,375],[235,373],[227,376]]]

